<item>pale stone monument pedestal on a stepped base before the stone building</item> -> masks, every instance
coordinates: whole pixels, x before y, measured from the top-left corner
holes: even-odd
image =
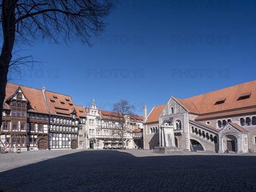
[[[154,148],[154,153],[183,153],[181,147],[175,146],[175,137],[173,131],[173,125],[160,126],[160,147]]]

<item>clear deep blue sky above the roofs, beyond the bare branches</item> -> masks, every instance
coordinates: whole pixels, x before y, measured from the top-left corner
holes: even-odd
[[[111,110],[120,99],[136,113],[256,79],[256,1],[121,1],[93,47],[40,42],[20,54],[46,62],[11,82],[93,98]],[[208,2],[208,3],[207,3]],[[30,74],[31,73],[31,74]]]

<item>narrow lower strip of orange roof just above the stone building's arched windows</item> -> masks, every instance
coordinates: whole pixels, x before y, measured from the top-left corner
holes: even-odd
[[[249,108],[249,109],[239,109],[239,110],[228,111],[228,112],[219,112],[219,113],[201,115],[197,117],[195,120],[215,119],[218,117],[232,117],[232,116],[238,116],[238,115],[248,114],[248,113],[256,114],[256,107]]]

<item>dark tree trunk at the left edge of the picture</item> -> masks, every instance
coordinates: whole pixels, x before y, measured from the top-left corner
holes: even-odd
[[[0,126],[3,122],[3,102],[6,96],[7,74],[12,59],[15,40],[15,0],[3,0],[2,3],[3,46],[0,55]]]

